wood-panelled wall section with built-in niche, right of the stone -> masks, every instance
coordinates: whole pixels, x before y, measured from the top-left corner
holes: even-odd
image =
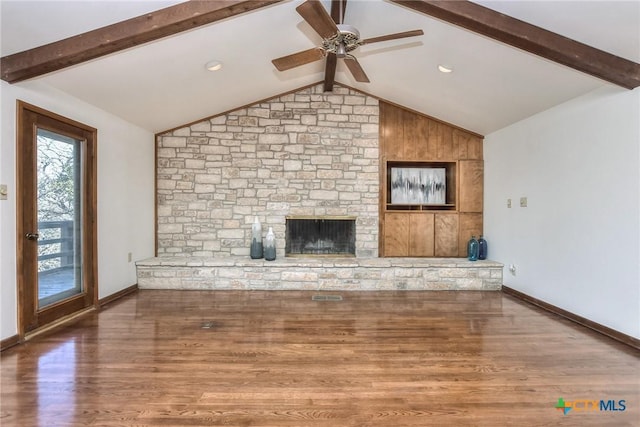
[[[444,169],[444,202],[394,203],[392,168]],[[481,136],[381,101],[380,180],[380,256],[465,257],[482,234]]]

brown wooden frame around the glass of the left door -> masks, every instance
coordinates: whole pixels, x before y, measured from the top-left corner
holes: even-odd
[[[16,114],[16,273],[18,336],[98,305],[97,130],[40,107],[17,101]],[[41,127],[84,141],[82,163],[82,282],[80,294],[38,308],[38,249],[25,235],[37,232],[36,129]],[[29,137],[31,135],[31,137]],[[29,138],[29,140],[27,140]]]

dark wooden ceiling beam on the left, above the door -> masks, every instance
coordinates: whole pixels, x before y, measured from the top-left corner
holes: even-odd
[[[9,83],[38,77],[282,0],[195,0],[0,58]]]

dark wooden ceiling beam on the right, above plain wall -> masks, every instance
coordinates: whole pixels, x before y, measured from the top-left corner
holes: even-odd
[[[425,15],[549,59],[627,89],[640,86],[640,64],[470,1],[391,0]]]

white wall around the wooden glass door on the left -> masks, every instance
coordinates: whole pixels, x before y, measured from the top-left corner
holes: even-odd
[[[17,333],[16,99],[98,129],[98,296],[136,283],[133,260],[154,253],[154,135],[37,82],[0,83],[0,338]]]

